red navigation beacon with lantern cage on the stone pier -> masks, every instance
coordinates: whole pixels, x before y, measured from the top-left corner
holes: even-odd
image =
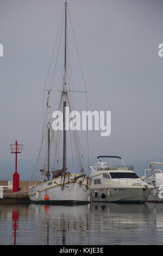
[[[17,173],[17,154],[22,153],[23,144],[10,144],[11,154],[15,154],[15,173],[13,174],[13,188],[12,192],[17,192],[17,188],[19,187],[19,174]]]

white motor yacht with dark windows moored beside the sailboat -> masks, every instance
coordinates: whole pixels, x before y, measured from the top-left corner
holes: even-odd
[[[101,158],[116,159],[121,165],[108,165]],[[91,166],[91,198],[95,202],[145,202],[153,186],[142,181],[133,166],[126,166],[120,156],[98,156]]]

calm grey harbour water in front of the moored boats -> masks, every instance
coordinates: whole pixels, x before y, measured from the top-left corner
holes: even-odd
[[[0,245],[162,245],[163,204],[0,204]]]

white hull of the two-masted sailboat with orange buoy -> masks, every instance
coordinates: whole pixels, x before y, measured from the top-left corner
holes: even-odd
[[[86,178],[79,178],[73,181],[74,174],[68,175],[62,186],[63,178],[52,179],[45,181],[40,185],[29,187],[30,202],[40,204],[77,204],[88,203],[90,197],[90,190],[87,187]],[[45,199],[45,196],[48,199]]]

